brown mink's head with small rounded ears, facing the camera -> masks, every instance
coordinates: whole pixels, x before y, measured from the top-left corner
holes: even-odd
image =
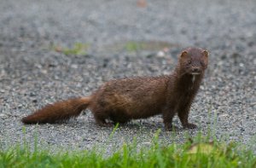
[[[183,50],[179,57],[179,66],[185,73],[198,75],[207,69],[208,51],[200,48]]]

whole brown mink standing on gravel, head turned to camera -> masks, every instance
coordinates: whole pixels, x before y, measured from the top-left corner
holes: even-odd
[[[207,64],[206,50],[185,49],[171,75],[112,80],[90,97],[55,102],[23,118],[22,122],[55,123],[77,117],[88,107],[99,125],[109,125],[106,119],[113,123],[126,123],[131,119],[145,119],[161,113],[169,130],[177,113],[184,128],[195,128],[196,125],[188,122],[189,108],[199,90]]]

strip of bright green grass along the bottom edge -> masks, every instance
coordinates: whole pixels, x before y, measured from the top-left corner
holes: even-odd
[[[37,143],[30,148],[24,139],[22,145],[1,150],[0,167],[256,167],[253,151],[236,143],[209,142],[198,135],[183,144],[162,145],[159,133],[147,147],[137,148],[136,141],[124,143],[113,154],[106,154],[104,148],[52,154],[38,149]]]

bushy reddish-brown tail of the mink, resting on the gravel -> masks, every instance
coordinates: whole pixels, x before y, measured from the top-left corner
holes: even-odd
[[[53,124],[79,116],[88,107],[89,103],[90,97],[55,102],[21,119],[21,121],[24,124]]]

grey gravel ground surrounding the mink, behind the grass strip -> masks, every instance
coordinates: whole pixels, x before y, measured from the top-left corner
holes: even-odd
[[[135,0],[2,0],[0,142],[6,147],[38,135],[52,149],[112,148],[134,137],[148,144],[163,129],[160,116],[119,127],[109,143],[112,129],[96,125],[90,113],[60,125],[26,125],[26,134],[20,118],[47,103],[88,96],[111,78],[172,72],[181,49],[200,46],[210,51],[210,65],[189,118],[200,128],[161,131],[160,139],[183,142],[211,130],[256,151],[255,18],[253,0],[148,0],[145,8]],[[131,42],[144,47],[128,51]],[[88,45],[87,54],[53,49],[74,43]]]

